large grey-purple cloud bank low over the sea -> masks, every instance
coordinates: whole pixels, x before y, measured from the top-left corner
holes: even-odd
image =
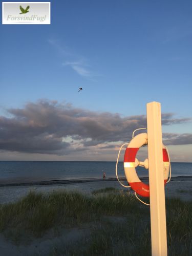
[[[109,112],[74,108],[71,104],[39,100],[23,109],[9,109],[0,116],[0,150],[67,155],[73,152],[105,150],[129,141],[132,132],[146,127],[146,116],[122,117]],[[162,124],[183,123],[189,118],[162,114]],[[166,144],[189,144],[191,134],[163,134]]]

